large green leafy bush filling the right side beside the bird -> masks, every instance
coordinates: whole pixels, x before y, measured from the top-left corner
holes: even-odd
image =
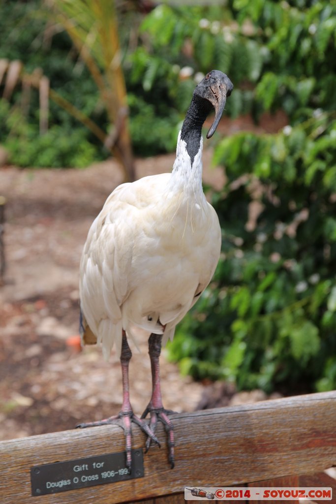
[[[284,109],[289,124],[277,134],[240,132],[217,145],[214,162],[228,177],[213,196],[222,255],[170,356],[181,359],[183,372],[240,389],[330,390],[336,387],[336,6],[235,0],[233,12],[241,27],[253,23],[253,41],[267,55],[251,108],[256,115]],[[241,72],[251,82],[248,68]]]

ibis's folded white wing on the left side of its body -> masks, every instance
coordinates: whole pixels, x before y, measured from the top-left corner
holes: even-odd
[[[160,194],[169,176],[148,176],[119,185],[88,233],[80,266],[81,309],[105,356],[114,342],[117,351],[121,349],[121,307],[130,292],[128,275],[141,227],[139,212],[153,203],[153,195]],[[84,330],[84,343],[86,334],[88,339],[91,336]]]

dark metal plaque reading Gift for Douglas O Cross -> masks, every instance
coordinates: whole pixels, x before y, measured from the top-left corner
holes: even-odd
[[[144,476],[143,450],[132,450],[132,469],[126,468],[126,452],[43,464],[30,469],[32,495],[66,492]]]

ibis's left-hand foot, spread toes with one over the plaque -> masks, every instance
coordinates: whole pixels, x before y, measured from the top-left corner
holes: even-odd
[[[104,420],[98,420],[96,422],[88,422],[88,423],[79,423],[76,425],[76,428],[84,429],[86,427],[96,427],[99,425],[119,425],[124,431],[125,434],[125,442],[126,442],[126,467],[128,472],[131,470],[131,423],[136,423],[141,430],[147,434],[148,439],[154,441],[160,447],[160,443],[158,438],[155,435],[155,431],[152,431],[149,425],[137,415],[135,415],[132,411],[120,411],[118,415],[110,416],[109,418],[104,418]],[[147,451],[147,443],[146,443],[146,451]]]

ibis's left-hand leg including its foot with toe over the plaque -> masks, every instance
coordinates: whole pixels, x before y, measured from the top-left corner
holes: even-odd
[[[104,420],[98,420],[96,422],[80,423],[76,427],[95,427],[97,425],[109,425],[116,424],[123,428],[125,433],[126,441],[126,467],[130,471],[131,468],[131,422],[136,423],[139,427],[149,436],[150,439],[155,441],[160,446],[158,438],[155,433],[150,429],[146,422],[138,418],[132,410],[131,404],[129,402],[129,379],[128,379],[128,366],[129,361],[132,356],[132,352],[128,346],[126,333],[122,331],[122,344],[121,344],[121,373],[122,373],[122,406],[118,415],[110,416],[109,418],[104,418]]]

